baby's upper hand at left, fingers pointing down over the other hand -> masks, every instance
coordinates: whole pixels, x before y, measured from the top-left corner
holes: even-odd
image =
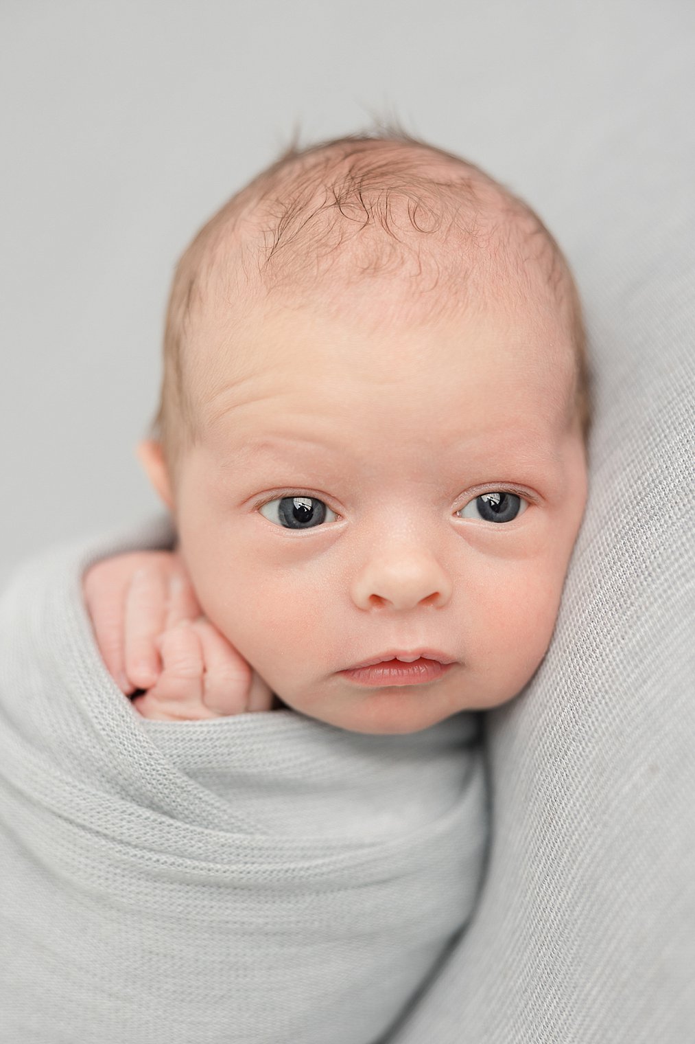
[[[157,637],[201,612],[183,562],[170,551],[103,559],[87,571],[82,590],[99,652],[125,695],[157,682]]]

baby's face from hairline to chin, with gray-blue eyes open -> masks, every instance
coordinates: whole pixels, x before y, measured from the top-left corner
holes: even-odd
[[[203,612],[285,704],[409,733],[503,704],[535,671],[585,458],[547,305],[510,289],[436,324],[364,311],[259,308],[233,350],[208,317],[205,435],[175,516]],[[453,664],[398,686],[342,673],[422,648]]]

